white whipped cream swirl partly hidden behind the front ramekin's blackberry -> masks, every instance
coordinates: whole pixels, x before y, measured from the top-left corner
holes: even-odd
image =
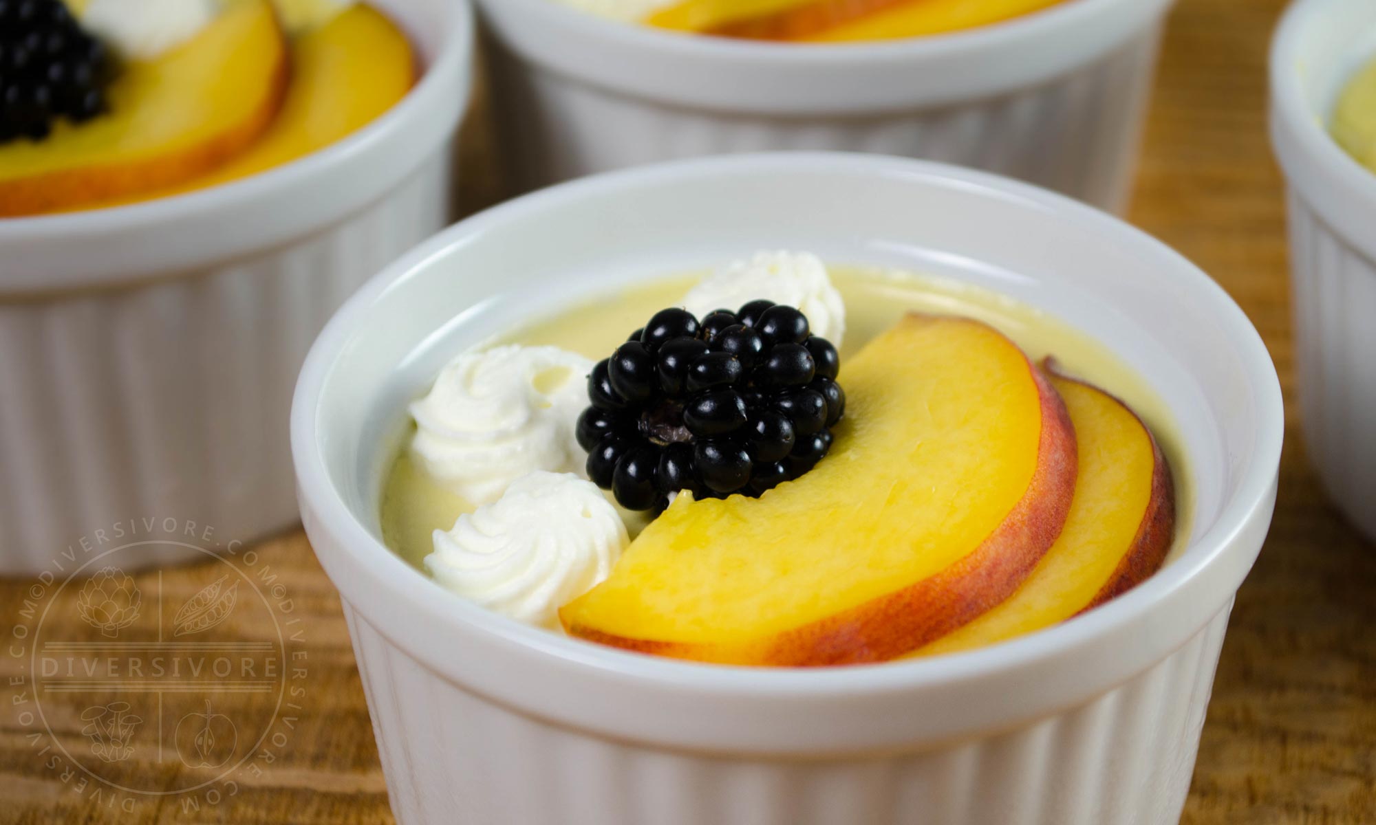
[[[684,296],[684,308],[702,318],[713,309],[736,311],[766,298],[808,316],[812,334],[841,346],[846,305],[831,285],[827,265],[806,252],[760,252],[717,270]]]

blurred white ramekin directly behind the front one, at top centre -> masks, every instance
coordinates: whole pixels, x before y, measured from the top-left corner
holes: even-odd
[[[1171,0],[1068,0],[848,45],[733,41],[557,0],[477,0],[512,182],[705,154],[845,150],[1010,175],[1120,210]]]

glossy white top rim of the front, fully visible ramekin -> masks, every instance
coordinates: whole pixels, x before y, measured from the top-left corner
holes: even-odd
[[[1138,587],[1093,612],[1018,639],[932,659],[839,668],[732,667],[629,653],[590,642],[563,638],[557,634],[516,623],[476,605],[466,604],[439,586],[420,587],[418,591],[411,591],[410,609],[427,609],[433,616],[443,616],[450,623],[450,627],[464,626],[469,631],[491,634],[502,642],[517,645],[528,652],[553,656],[570,666],[594,668],[603,674],[633,678],[649,685],[673,685],[706,693],[746,692],[755,696],[794,697],[916,690],[943,683],[967,682],[995,672],[1015,671],[1022,666],[1066,654],[1098,637],[1106,637],[1113,631],[1121,630],[1141,620],[1150,612],[1154,604],[1164,601],[1168,595],[1198,578],[1254,522],[1258,512],[1274,491],[1280,466],[1281,443],[1284,439],[1284,404],[1280,380],[1260,334],[1247,319],[1247,315],[1216,282],[1208,278],[1193,263],[1141,230],[1088,205],[1032,184],[1014,182],[987,172],[930,161],[854,153],[762,153],[694,158],[610,172],[508,201],[460,221],[421,243],[355,293],[334,318],[330,319],[311,348],[293,399],[292,450],[303,513],[311,514],[307,518],[308,524],[314,522],[318,525],[318,529],[330,534],[330,542],[316,543],[316,547],[323,547],[326,553],[340,551],[350,556],[355,564],[367,569],[376,578],[403,576],[403,586],[405,583],[428,582],[418,571],[378,542],[343,500],[337,488],[330,481],[323,454],[315,439],[315,422],[323,414],[318,407],[323,384],[369,304],[388,292],[394,286],[394,282],[417,267],[424,265],[428,260],[443,256],[446,249],[455,246],[462,238],[480,232],[486,226],[508,220],[508,216],[512,213],[519,214],[522,210],[535,209],[546,202],[579,198],[585,194],[616,188],[629,183],[671,180],[677,176],[688,176],[703,169],[729,169],[746,165],[753,170],[760,170],[760,166],[787,169],[799,164],[824,164],[861,175],[894,170],[932,180],[982,186],[1002,195],[1020,197],[1049,212],[1072,214],[1075,220],[1091,221],[1097,227],[1116,234],[1126,242],[1145,246],[1156,254],[1164,256],[1167,260],[1174,260],[1175,268],[1182,272],[1182,276],[1192,279],[1197,285],[1201,300],[1212,301],[1214,309],[1219,312],[1221,323],[1229,329],[1229,337],[1237,342],[1240,351],[1247,356],[1245,378],[1256,395],[1258,436],[1248,472],[1238,481],[1236,492],[1221,507],[1214,525],[1204,535],[1196,538],[1186,549],[1187,551],[1197,547],[1204,547],[1205,550],[1193,554],[1193,557],[1186,553],[1185,557],[1171,562]],[[329,544],[333,544],[333,547],[329,547]],[[411,649],[406,641],[394,639],[394,642],[424,659],[424,652]],[[429,664],[431,667],[440,667],[443,670],[442,663],[431,661]]]

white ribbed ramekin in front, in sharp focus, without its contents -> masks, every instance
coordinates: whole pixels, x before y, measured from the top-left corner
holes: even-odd
[[[454,352],[757,248],[967,279],[1106,342],[1178,417],[1197,495],[1187,549],[1102,609],[1007,645],[771,671],[517,624],[383,546],[406,403]],[[466,220],[351,298],[292,412],[305,528],[343,595],[407,825],[1175,822],[1233,595],[1270,524],[1281,434],[1256,331],[1163,245],[1025,184],[843,154],[618,172]]]

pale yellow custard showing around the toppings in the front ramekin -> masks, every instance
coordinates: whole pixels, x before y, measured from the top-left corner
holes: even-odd
[[[1029,358],[1054,356],[1062,371],[1104,388],[1138,412],[1172,469],[1178,500],[1175,535],[1189,535],[1193,492],[1175,422],[1156,393],[1101,344],[1006,296],[956,280],[856,267],[832,267],[830,272],[846,308],[842,385],[846,360],[908,312],[984,320],[1007,334]],[[586,304],[533,320],[501,342],[555,345],[603,359],[656,311],[680,305],[696,280],[696,276],[669,278],[611,296],[589,296]],[[433,549],[433,532],[450,529],[461,514],[472,510],[468,502],[431,481],[400,450],[381,502],[383,536],[392,550],[420,568]],[[627,522],[632,535],[643,525],[644,517]],[[1182,544],[1178,540],[1172,553]]]

